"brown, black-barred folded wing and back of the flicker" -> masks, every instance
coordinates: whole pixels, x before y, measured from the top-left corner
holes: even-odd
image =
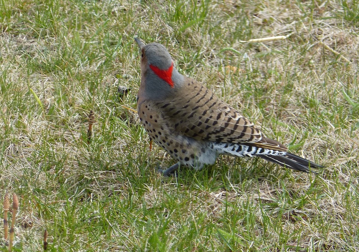
[[[251,143],[262,148],[286,150],[284,145],[265,139],[254,123],[190,78],[185,78],[182,92],[161,101],[158,106],[166,111],[177,132],[197,140]]]

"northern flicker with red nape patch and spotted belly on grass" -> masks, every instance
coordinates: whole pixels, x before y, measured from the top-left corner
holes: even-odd
[[[135,41],[141,50],[140,122],[150,138],[177,160],[171,167],[159,169],[165,176],[180,165],[201,169],[215,163],[220,154],[261,157],[303,172],[322,167],[266,138],[204,85],[178,73],[163,45]]]

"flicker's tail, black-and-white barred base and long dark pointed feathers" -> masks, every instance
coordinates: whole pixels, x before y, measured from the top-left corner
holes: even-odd
[[[309,168],[323,167],[322,165],[288,152],[284,145],[274,140],[264,140],[271,141],[272,143],[216,143],[215,148],[220,154],[233,157],[260,157],[283,167],[302,172],[310,172],[311,170]]]

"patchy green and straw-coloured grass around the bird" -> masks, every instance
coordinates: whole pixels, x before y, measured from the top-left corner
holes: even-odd
[[[0,0],[0,204],[20,197],[16,251],[42,250],[45,229],[51,251],[358,251],[359,2],[250,2]],[[326,167],[222,157],[161,177],[173,160],[121,107],[136,106],[135,34]]]

